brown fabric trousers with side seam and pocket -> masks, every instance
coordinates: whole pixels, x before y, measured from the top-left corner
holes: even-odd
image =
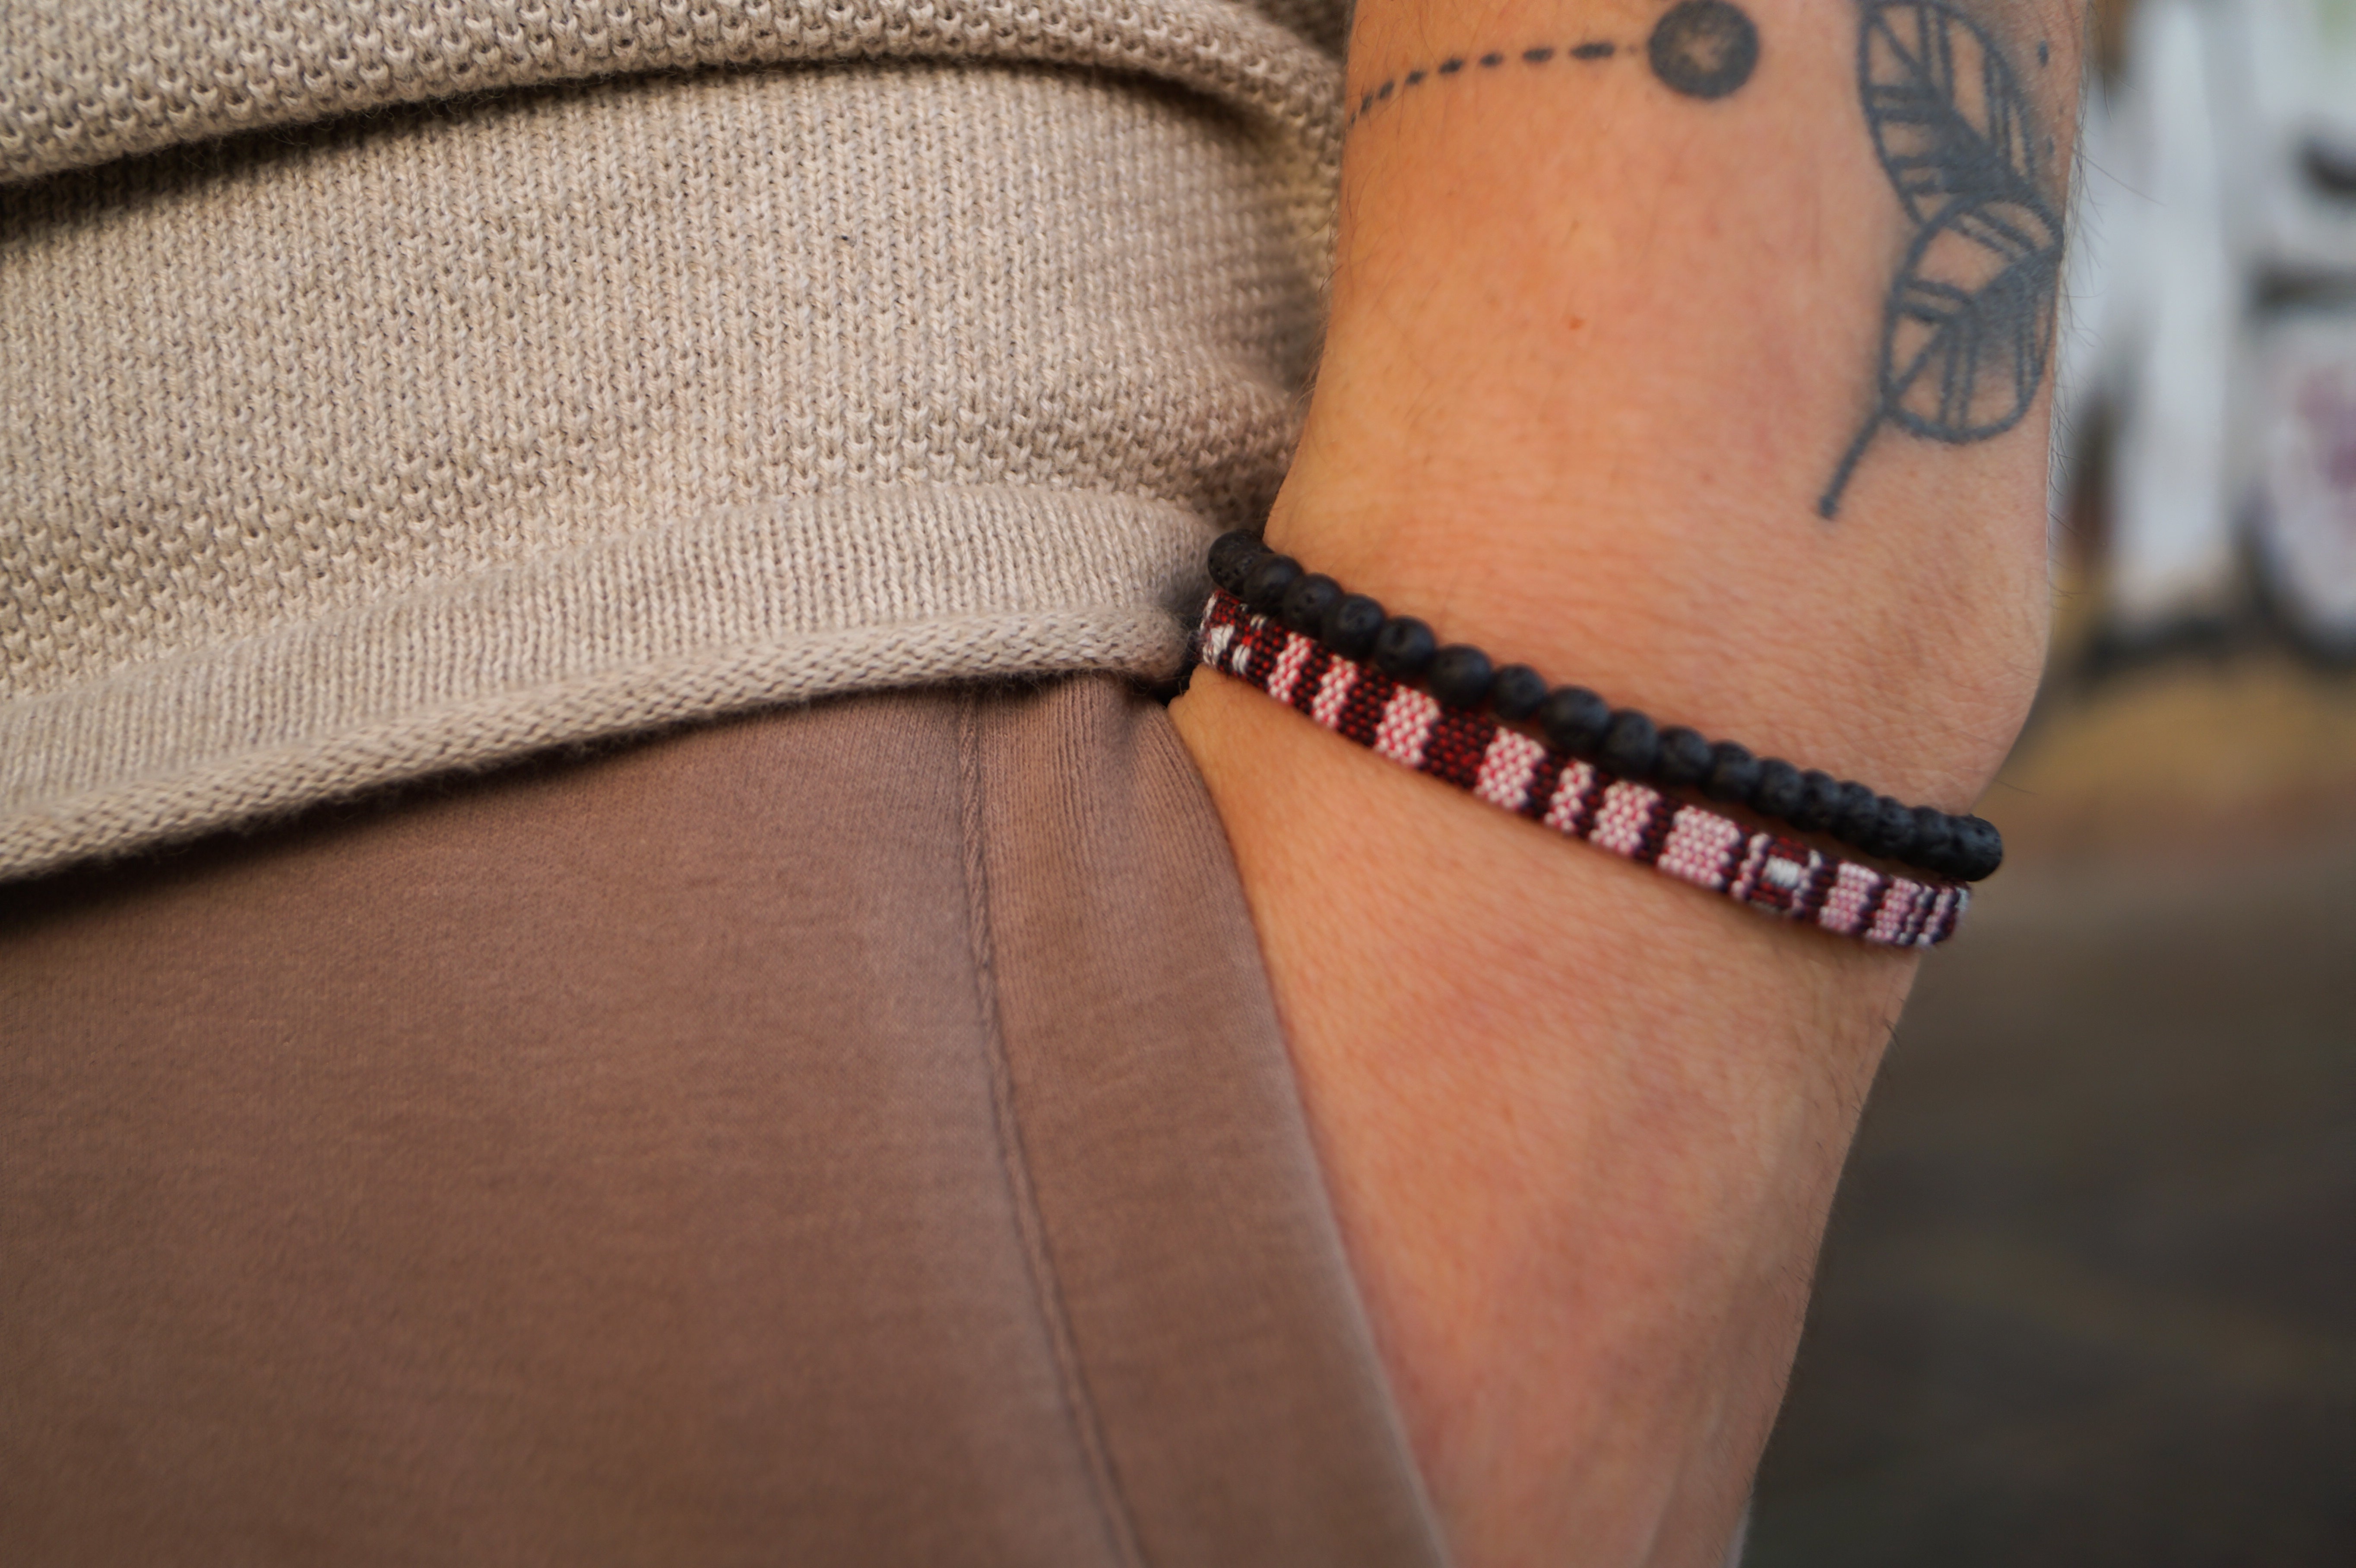
[[[0,1561],[1437,1563],[1107,678],[0,902]]]

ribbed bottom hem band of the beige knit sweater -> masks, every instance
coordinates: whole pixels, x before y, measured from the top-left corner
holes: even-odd
[[[0,704],[0,878],[756,706],[1169,678],[1209,532],[1176,504],[1086,492],[803,497],[118,669]],[[921,537],[997,570],[888,558]],[[952,603],[909,593],[926,582]],[[954,603],[971,582],[1018,589]],[[808,624],[813,603],[834,624]]]

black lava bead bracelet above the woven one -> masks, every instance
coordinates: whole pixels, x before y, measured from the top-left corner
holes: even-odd
[[[1345,659],[1371,659],[1385,676],[1421,685],[1449,706],[1487,706],[1505,723],[1534,725],[1550,746],[1623,779],[1694,789],[1802,833],[1828,833],[1864,855],[1960,883],[1991,876],[2005,859],[2003,836],[1981,817],[1906,805],[1854,779],[1758,758],[1736,742],[1710,742],[1685,725],[1663,730],[1583,685],[1548,685],[1531,666],[1491,664],[1470,643],[1442,645],[1411,614],[1390,614],[1364,593],[1345,593],[1331,577],[1305,572],[1256,534],[1237,530],[1218,537],[1211,582]]]

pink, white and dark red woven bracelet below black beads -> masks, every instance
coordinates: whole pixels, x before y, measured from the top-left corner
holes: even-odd
[[[1553,751],[1489,713],[1444,706],[1253,614],[1225,589],[1213,589],[1204,607],[1197,657],[1376,756],[1760,913],[1880,946],[1934,946],[1955,935],[1972,902],[1960,883],[1890,876],[1781,833],[1751,831]]]

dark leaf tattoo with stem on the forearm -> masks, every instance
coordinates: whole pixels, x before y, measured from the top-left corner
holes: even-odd
[[[1948,0],[1871,0],[1857,89],[1913,242],[1882,308],[1873,414],[1816,511],[1840,497],[1885,424],[1963,445],[2029,414],[2052,351],[2062,219],[2012,66]]]

